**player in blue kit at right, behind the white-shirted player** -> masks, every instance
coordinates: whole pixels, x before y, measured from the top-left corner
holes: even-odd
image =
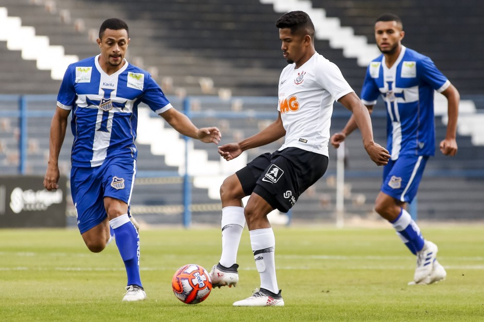
[[[459,92],[428,57],[404,47],[402,21],[384,14],[375,23],[375,38],[382,52],[367,69],[362,101],[370,112],[379,96],[387,108],[387,148],[391,158],[383,168],[381,191],[375,211],[388,220],[408,249],[417,255],[417,268],[410,285],[442,280],[445,269],[437,261],[437,246],[425,240],[419,226],[405,210],[417,194],[428,157],[434,155],[434,91],[448,101],[449,122],[440,150],[446,156],[457,153],[456,130]],[[351,117],[345,128],[331,137],[339,143],[356,129]]]

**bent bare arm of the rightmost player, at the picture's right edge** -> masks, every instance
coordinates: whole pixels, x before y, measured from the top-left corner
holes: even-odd
[[[443,96],[447,98],[447,132],[445,139],[440,142],[440,151],[446,156],[455,156],[457,154],[457,116],[459,115],[459,101],[460,95],[454,85],[449,85],[443,92]]]

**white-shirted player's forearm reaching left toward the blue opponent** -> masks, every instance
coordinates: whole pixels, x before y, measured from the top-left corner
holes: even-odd
[[[283,136],[285,136],[285,129],[282,125],[281,113],[279,112],[277,120],[264,128],[258,134],[244,139],[239,143],[228,143],[219,146],[219,154],[225,160],[230,161],[240,156],[245,150],[266,145],[282,138]]]

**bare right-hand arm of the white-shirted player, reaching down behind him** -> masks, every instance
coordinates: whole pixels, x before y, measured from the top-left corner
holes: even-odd
[[[373,141],[373,129],[371,127],[370,113],[368,108],[363,105],[360,98],[354,92],[346,94],[339,99],[339,103],[353,112],[352,118],[363,137],[363,146],[370,159],[377,165],[385,165],[390,159],[387,149]],[[353,128],[354,130],[354,128]]]

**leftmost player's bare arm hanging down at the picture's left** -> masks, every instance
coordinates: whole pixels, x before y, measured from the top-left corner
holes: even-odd
[[[44,176],[44,187],[48,191],[55,190],[59,187],[57,184],[60,177],[59,153],[64,142],[69,113],[70,110],[57,107],[50,122],[49,161],[47,162],[47,170]]]

